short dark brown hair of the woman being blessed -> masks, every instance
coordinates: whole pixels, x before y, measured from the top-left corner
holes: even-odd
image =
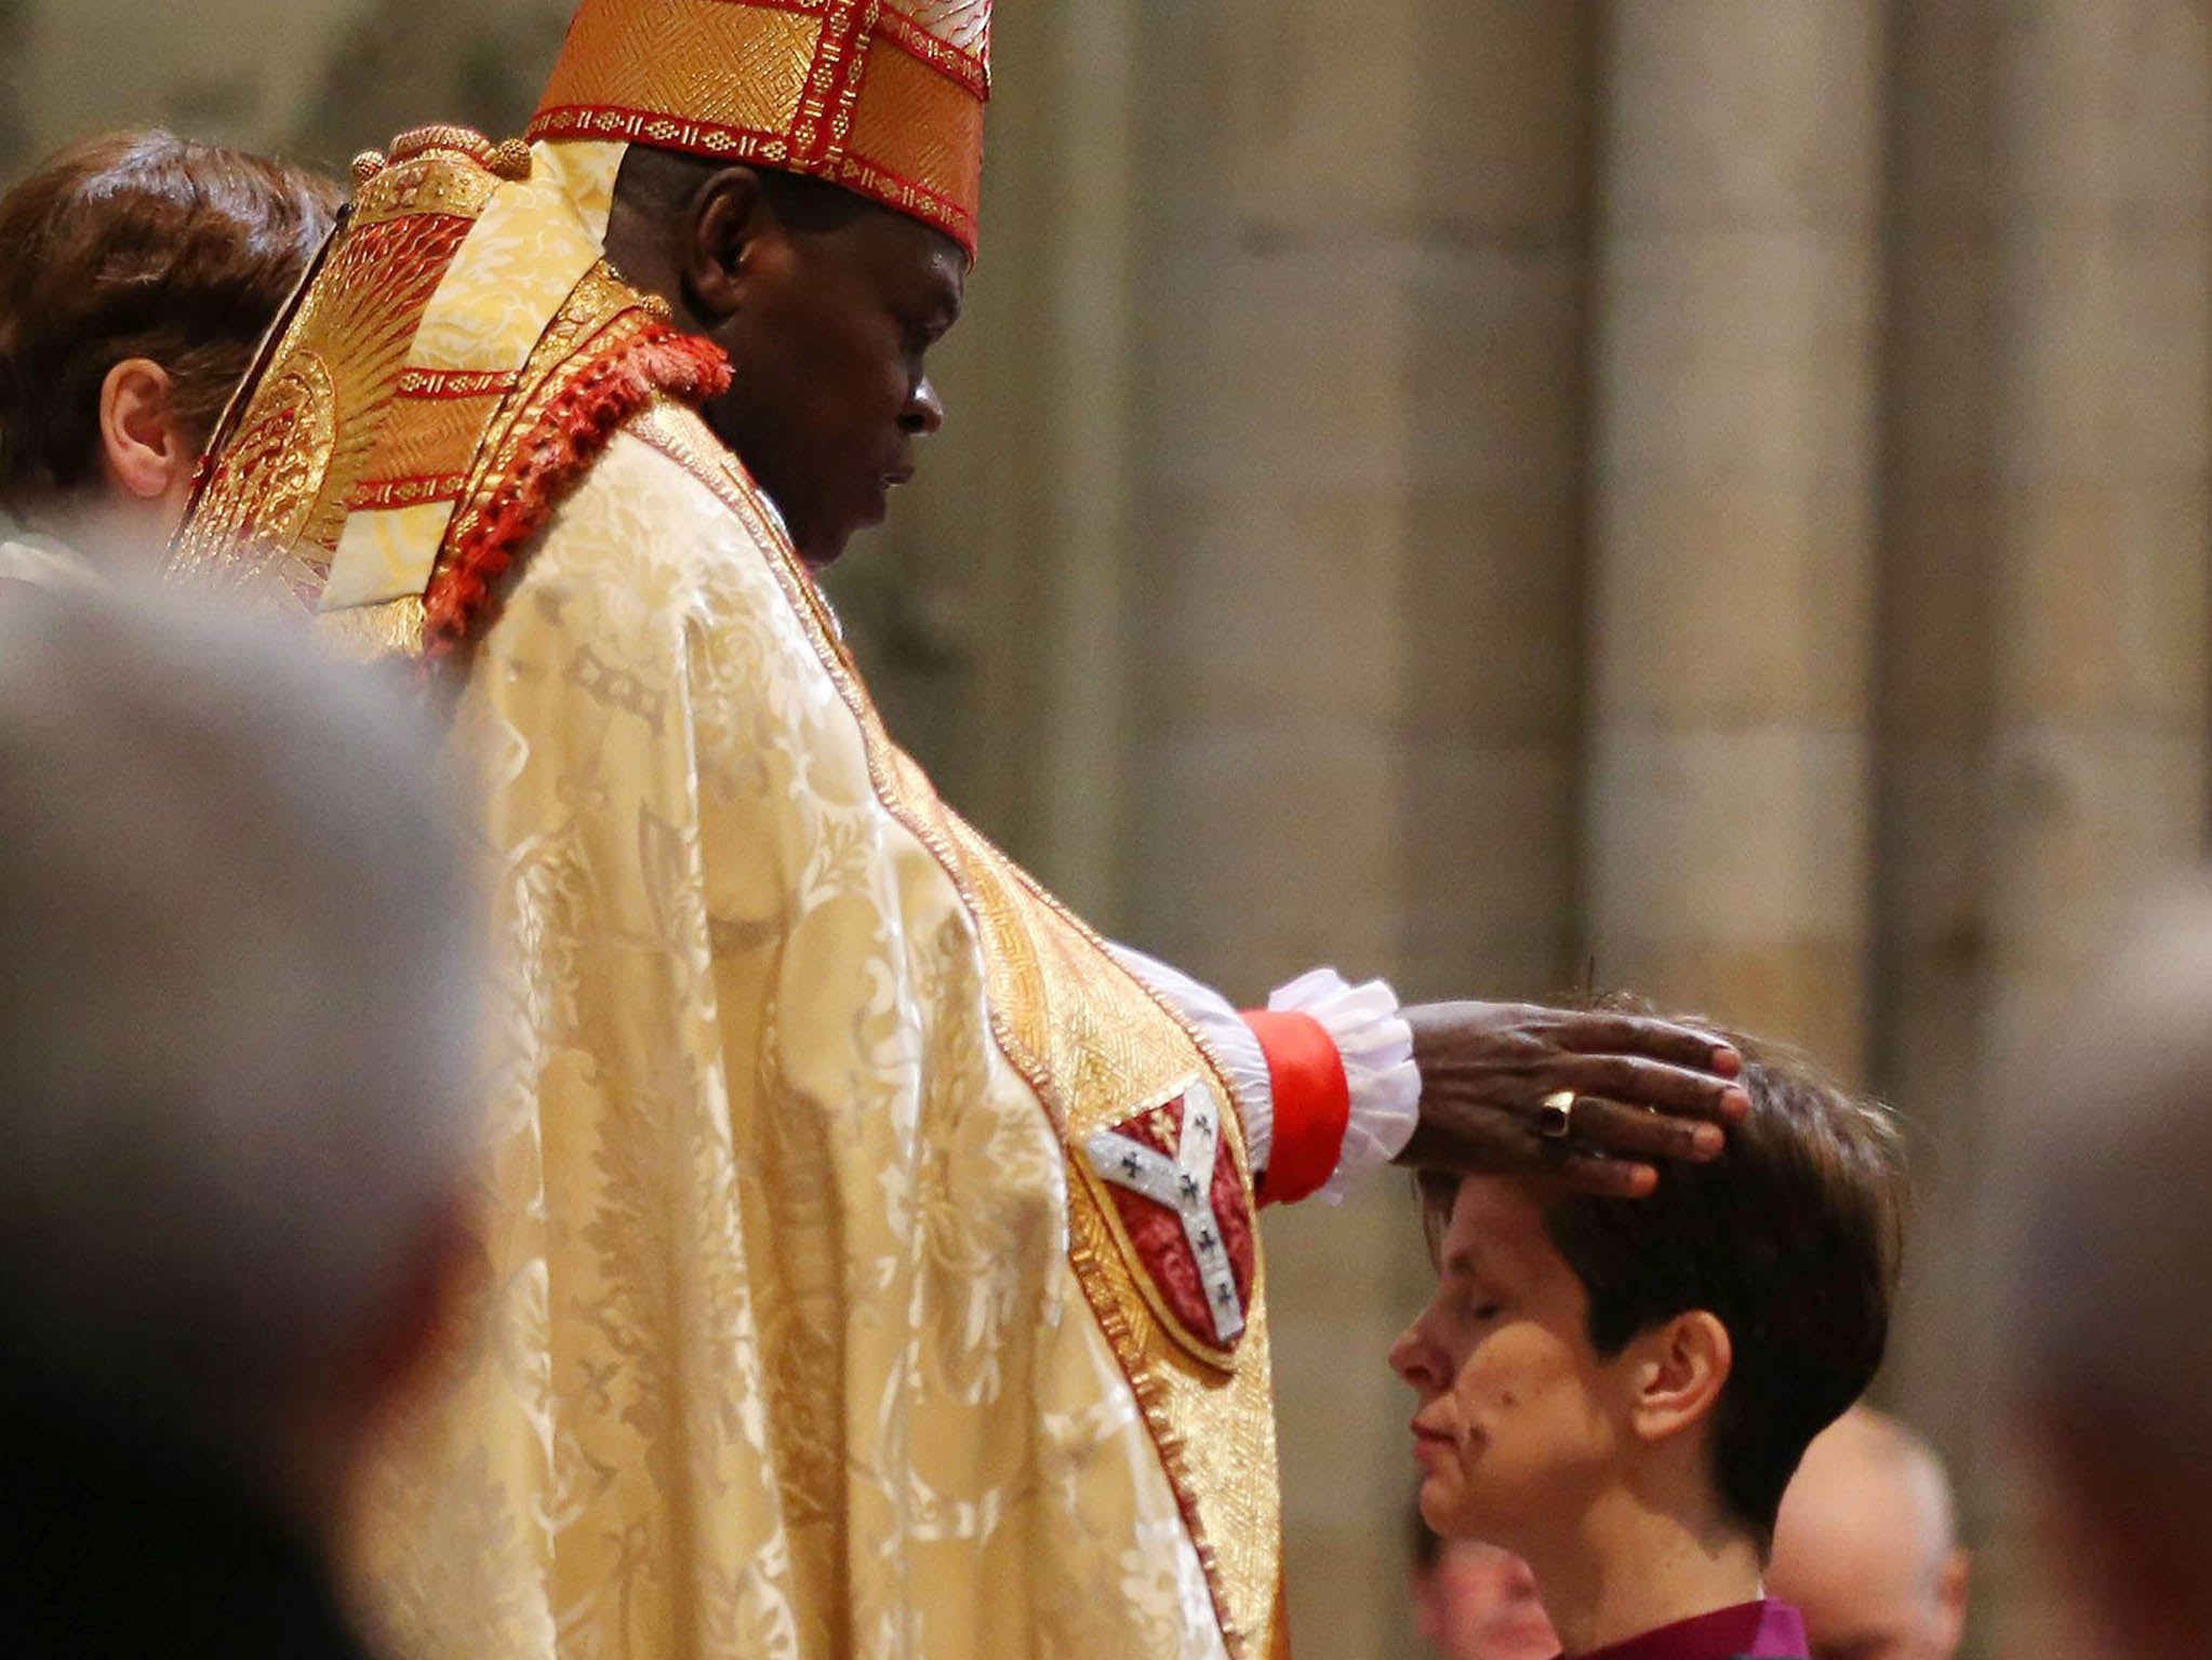
[[[1723,1037],[1743,1054],[1752,1096],[1728,1152],[1666,1169],[1650,1198],[1557,1194],[1544,1225],[1590,1297],[1599,1355],[1694,1309],[1728,1326],[1734,1366],[1712,1419],[1712,1481],[1767,1549],[1805,1448],[1882,1364],[1905,1236],[1905,1138],[1887,1107],[1851,1096],[1805,1057]],[[1431,1244],[1458,1189],[1458,1176],[1420,1176]]]

